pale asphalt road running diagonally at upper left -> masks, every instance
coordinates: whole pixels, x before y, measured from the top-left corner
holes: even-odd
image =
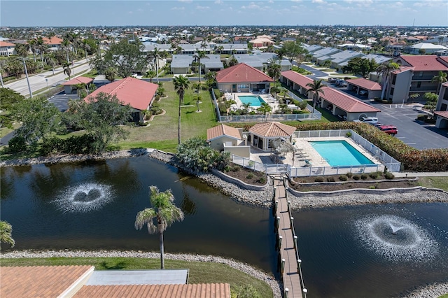
[[[73,69],[75,73],[80,73],[82,71],[90,71],[90,66],[88,63],[85,63],[85,59],[82,59],[80,61],[77,61],[74,63],[74,66],[72,68],[72,75],[73,78]],[[29,76],[29,85],[31,87],[31,92],[33,94],[41,90],[45,87],[51,87],[53,85],[57,85],[59,83],[64,82],[65,78],[67,78],[66,74],[63,73],[64,69],[62,67],[58,67],[55,69],[55,76],[53,76],[52,71],[45,71],[43,73],[39,73],[33,76]],[[48,80],[48,82],[47,82]],[[29,88],[26,78],[22,78],[21,80],[16,80],[12,83],[6,83],[6,88],[10,88],[16,92],[19,92],[20,94],[24,96],[29,95]]]

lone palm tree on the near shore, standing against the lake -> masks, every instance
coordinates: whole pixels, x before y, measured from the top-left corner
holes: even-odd
[[[135,228],[141,229],[144,225],[148,227],[149,234],[159,234],[160,246],[160,269],[165,269],[165,256],[163,250],[163,232],[173,222],[183,220],[183,212],[174,205],[174,196],[171,190],[159,192],[155,185],[149,187],[149,199],[152,208],[146,208],[137,213]]]

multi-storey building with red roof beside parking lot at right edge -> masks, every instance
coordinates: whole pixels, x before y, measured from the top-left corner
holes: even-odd
[[[432,81],[434,76],[439,71],[448,72],[448,57],[402,55],[393,62],[400,64],[400,69],[391,73],[391,84],[385,90],[385,98],[393,103],[407,102],[409,94],[423,98],[426,92],[437,92],[437,83]]]

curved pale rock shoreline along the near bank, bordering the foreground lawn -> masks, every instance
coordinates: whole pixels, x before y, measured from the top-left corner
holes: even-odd
[[[160,253],[154,252],[142,252],[134,250],[98,250],[98,251],[85,251],[85,250],[17,250],[8,253],[1,253],[1,258],[5,259],[19,259],[24,257],[145,257],[151,259],[160,258]],[[281,285],[274,276],[269,276],[263,271],[255,269],[251,265],[237,262],[232,259],[226,259],[224,257],[216,257],[214,255],[189,255],[189,254],[172,254],[165,253],[165,259],[167,260],[181,260],[188,262],[215,262],[226,264],[234,269],[242,271],[254,278],[264,281],[271,288],[274,293],[274,298],[281,298]]]

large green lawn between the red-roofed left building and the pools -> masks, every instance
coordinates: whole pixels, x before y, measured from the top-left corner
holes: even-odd
[[[174,90],[172,82],[164,82],[163,87],[168,95],[160,99],[160,108],[166,111],[164,115],[157,115],[148,127],[126,127],[130,132],[125,141],[120,141],[120,149],[130,148],[158,148],[160,150],[175,152],[178,138],[179,96]],[[216,126],[216,113],[210,93],[201,90],[201,113],[197,113],[196,101],[193,99],[193,90],[187,90],[183,108],[181,108],[181,139],[190,139],[193,136],[207,136],[207,129]]]

